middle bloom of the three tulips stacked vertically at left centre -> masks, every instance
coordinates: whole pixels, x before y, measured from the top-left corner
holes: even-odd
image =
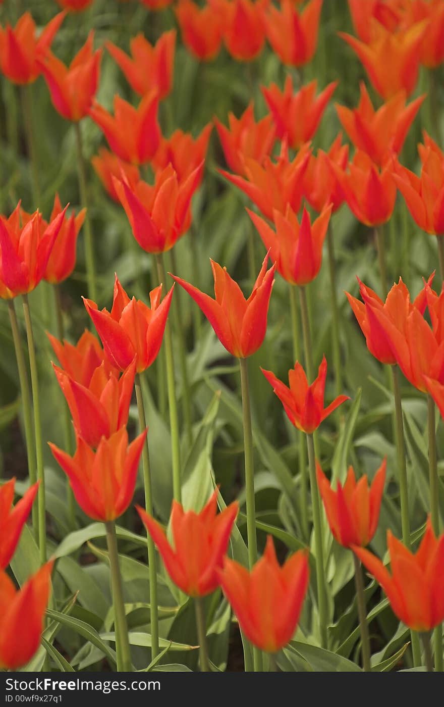
[[[136,360],[119,379],[107,373],[105,364],[101,363],[92,373],[88,386],[73,380],[54,363],[52,367],[71,411],[74,429],[90,447],[97,447],[102,437],[112,436],[128,423]]]

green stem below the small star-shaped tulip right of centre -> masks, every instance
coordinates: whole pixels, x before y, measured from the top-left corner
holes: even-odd
[[[311,505],[313,510],[313,531],[316,551],[316,582],[318,584],[318,611],[320,643],[327,648],[327,596],[325,594],[323,527],[320,515],[320,498],[316,483],[315,445],[313,435],[307,435],[308,471],[310,472]]]

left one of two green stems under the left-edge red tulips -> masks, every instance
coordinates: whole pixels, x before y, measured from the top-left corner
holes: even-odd
[[[35,482],[37,481],[37,467],[35,464],[35,444],[34,436],[32,433],[32,403],[28,382],[28,372],[26,370],[25,356],[23,355],[22,342],[20,338],[20,331],[18,329],[18,320],[16,315],[16,308],[14,306],[14,300],[7,300],[7,302],[9,320],[11,322],[11,332],[14,343],[14,350],[16,351],[18,380],[20,382],[20,395],[22,398],[23,424],[25,426],[25,443],[26,452],[28,455],[28,472],[30,477],[30,484],[35,484]],[[38,543],[39,527],[37,505],[35,503],[32,504],[32,527],[34,529],[35,538]]]

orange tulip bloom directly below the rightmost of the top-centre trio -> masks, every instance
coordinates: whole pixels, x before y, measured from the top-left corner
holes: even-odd
[[[317,81],[311,81],[293,93],[292,77],[287,76],[283,92],[275,83],[270,88],[261,87],[275,121],[277,136],[281,140],[287,138],[294,149],[311,140],[315,134],[337,81],[329,83],[317,98],[316,86]]]

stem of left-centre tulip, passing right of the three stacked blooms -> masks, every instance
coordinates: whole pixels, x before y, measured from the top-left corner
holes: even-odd
[[[134,380],[136,388],[137,410],[139,415],[139,431],[143,433],[146,428],[145,407],[143,405],[142,385],[140,373],[136,373]],[[148,449],[148,437],[142,450],[143,486],[145,489],[145,508],[147,513],[152,515],[152,483],[150,470],[150,452]],[[157,573],[156,573],[156,551],[154,542],[149,532],[147,532],[148,544],[148,571],[150,573],[150,631],[151,631],[151,660],[159,655],[159,617],[157,614]]]

